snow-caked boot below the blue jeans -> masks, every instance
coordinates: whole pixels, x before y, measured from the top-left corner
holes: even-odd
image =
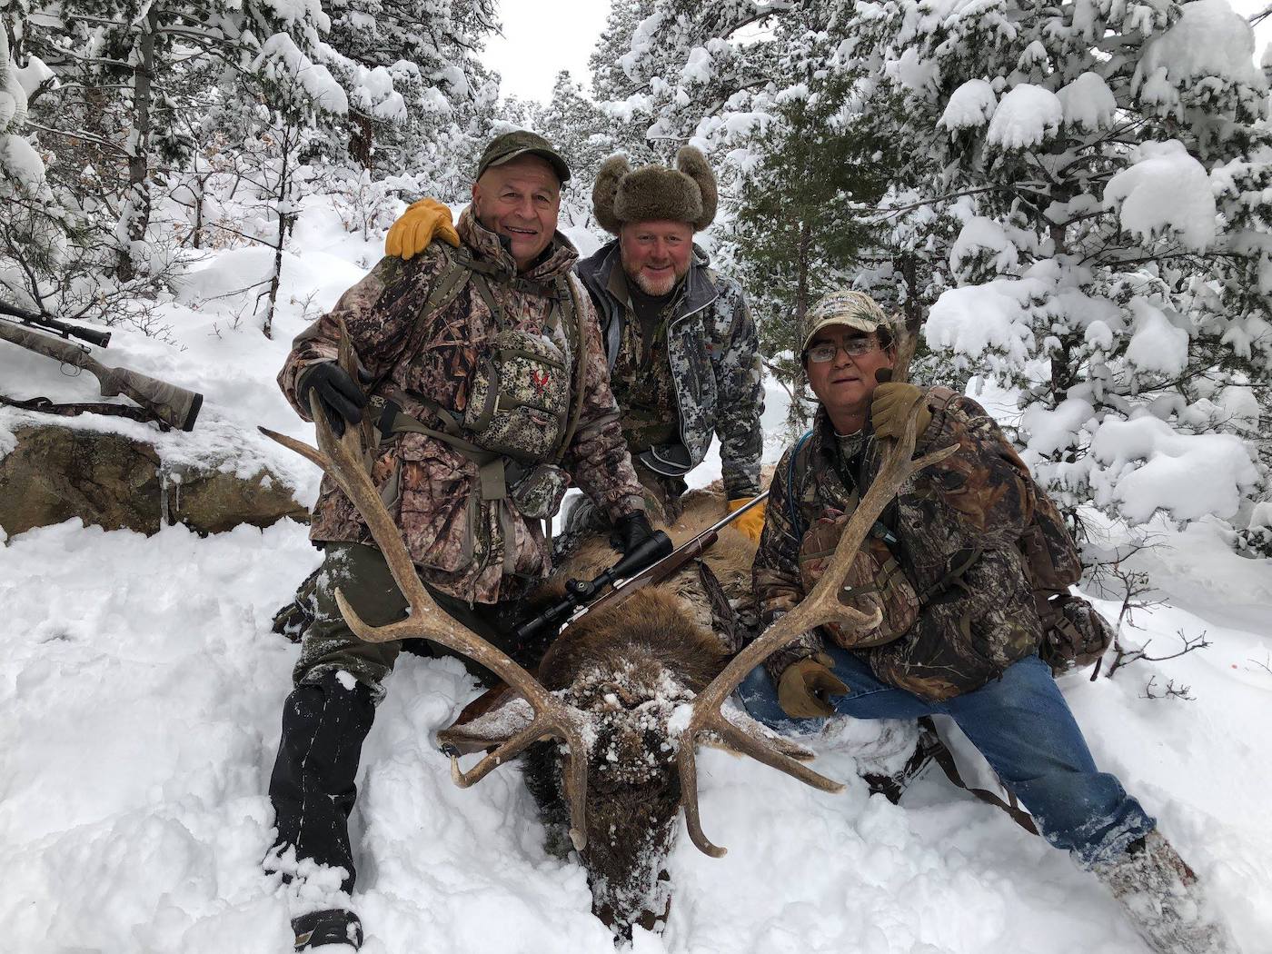
[[[1091,870],[1158,954],[1240,954],[1206,913],[1197,875],[1156,829]]]

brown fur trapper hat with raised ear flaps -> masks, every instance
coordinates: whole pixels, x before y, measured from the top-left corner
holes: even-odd
[[[591,187],[597,221],[614,235],[627,221],[686,221],[701,232],[715,219],[716,183],[706,156],[693,146],[681,146],[675,168],[642,165],[635,172],[627,156],[612,155]]]

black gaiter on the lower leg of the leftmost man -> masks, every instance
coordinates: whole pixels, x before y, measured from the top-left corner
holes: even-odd
[[[345,892],[352,890],[356,875],[349,845],[354,778],[374,717],[371,691],[346,673],[301,683],[282,707],[282,738],[270,777],[279,827],[270,859],[294,847],[298,861],[343,868]]]

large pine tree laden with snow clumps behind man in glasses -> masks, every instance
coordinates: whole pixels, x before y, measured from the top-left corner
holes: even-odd
[[[948,286],[929,346],[1021,388],[1025,457],[1068,506],[1233,515],[1259,478],[1216,434],[1224,396],[1272,383],[1248,25],[1226,0],[925,10],[873,8],[847,34],[883,78],[861,127],[901,159],[884,219]]]

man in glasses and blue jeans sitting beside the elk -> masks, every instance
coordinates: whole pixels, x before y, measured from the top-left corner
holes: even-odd
[[[773,476],[754,562],[761,619],[796,605],[824,571],[847,518],[880,466],[879,441],[917,407],[916,455],[958,452],[912,477],[857,553],[845,583],[883,611],[869,632],[826,626],[770,656],[740,687],[748,711],[777,729],[827,716],[948,715],[1039,833],[1094,870],[1161,954],[1235,950],[1197,904],[1196,875],[1155,820],[1099,772],[1051,670],[1016,541],[1035,491],[997,425],[971,398],[876,382],[895,349],[866,295],[837,291],[805,318],[801,357],[820,406],[813,430]]]

